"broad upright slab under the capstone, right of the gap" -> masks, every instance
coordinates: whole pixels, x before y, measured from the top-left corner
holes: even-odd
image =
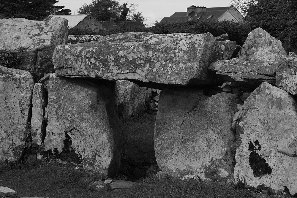
[[[232,118],[238,96],[206,96],[197,89],[164,89],[158,102],[154,145],[158,166],[172,175],[227,180],[233,174]]]

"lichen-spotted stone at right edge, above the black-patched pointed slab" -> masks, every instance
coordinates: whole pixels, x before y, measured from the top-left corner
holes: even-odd
[[[276,63],[276,85],[290,94],[297,95],[297,56]]]

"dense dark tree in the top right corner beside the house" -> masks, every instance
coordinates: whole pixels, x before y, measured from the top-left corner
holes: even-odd
[[[244,0],[241,3],[245,3],[238,5],[252,29],[263,28],[281,40],[287,50],[297,50],[296,0]]]

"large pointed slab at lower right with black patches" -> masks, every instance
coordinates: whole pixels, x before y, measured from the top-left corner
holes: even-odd
[[[290,94],[263,82],[236,126],[236,183],[297,193],[297,109]]]

